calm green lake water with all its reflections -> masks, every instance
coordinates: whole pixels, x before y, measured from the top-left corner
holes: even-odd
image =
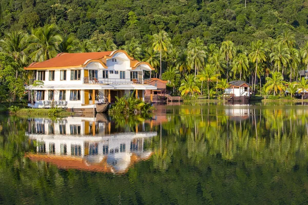
[[[0,204],[307,204],[306,105],[0,115]]]

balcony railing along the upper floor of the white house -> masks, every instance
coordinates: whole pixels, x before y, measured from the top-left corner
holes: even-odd
[[[84,78],[84,84],[149,84],[150,79]]]

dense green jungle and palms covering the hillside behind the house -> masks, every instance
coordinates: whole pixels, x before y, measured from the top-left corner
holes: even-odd
[[[308,65],[305,1],[1,0],[0,5],[1,56],[12,62],[10,68],[0,62],[1,101],[23,97],[23,83],[33,78],[24,66],[60,52],[124,49],[156,68],[152,76],[168,80],[172,94],[208,98],[232,79],[276,95],[286,90],[284,80],[299,80],[298,71]],[[262,86],[270,79],[274,84]],[[297,86],[292,85],[295,91]]]

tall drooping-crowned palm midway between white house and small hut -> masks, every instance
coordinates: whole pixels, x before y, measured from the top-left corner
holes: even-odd
[[[195,67],[195,77],[197,70],[204,65],[204,59],[206,57],[205,46],[200,37],[192,38],[187,44],[188,49],[188,60],[191,68]]]

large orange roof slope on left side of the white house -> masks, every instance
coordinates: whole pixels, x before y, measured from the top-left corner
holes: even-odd
[[[59,53],[56,57],[45,60],[42,63],[32,63],[26,69],[72,67],[84,65],[87,60],[101,59],[108,56],[112,51],[91,53]]]

